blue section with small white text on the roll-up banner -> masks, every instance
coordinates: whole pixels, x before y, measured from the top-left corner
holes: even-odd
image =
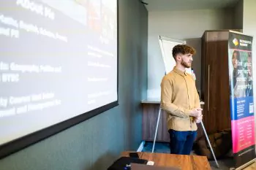
[[[254,115],[253,96],[245,98],[230,98],[231,120],[238,120]]]

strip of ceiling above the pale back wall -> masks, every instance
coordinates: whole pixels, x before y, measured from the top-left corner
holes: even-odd
[[[142,0],[149,12],[233,7],[238,0]]]

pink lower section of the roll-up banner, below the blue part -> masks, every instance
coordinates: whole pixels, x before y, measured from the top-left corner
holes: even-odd
[[[255,116],[231,120],[233,152],[255,144]]]

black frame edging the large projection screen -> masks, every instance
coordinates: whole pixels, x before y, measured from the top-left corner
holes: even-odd
[[[28,134],[26,136],[22,136],[18,139],[12,140],[5,144],[0,145],[0,159],[5,158],[12,153],[18,152],[20,150],[25,149],[26,147],[31,146],[32,144],[36,144],[37,142],[42,141],[43,139],[47,139],[50,136],[60,133],[61,131],[66,130],[67,128],[71,128],[74,125],[78,125],[78,123],[82,123],[85,120],[89,120],[91,117],[97,116],[103,112],[112,109],[113,107],[117,107],[118,104],[118,71],[119,71],[119,0],[116,0],[116,26],[117,26],[117,100],[113,101],[110,104],[106,104],[105,106],[98,107],[97,109],[93,109],[89,112],[82,113],[76,117],[72,117],[68,120],[64,120],[61,123],[56,123],[54,125],[48,126],[47,128],[43,128],[39,131],[35,131],[34,133]]]

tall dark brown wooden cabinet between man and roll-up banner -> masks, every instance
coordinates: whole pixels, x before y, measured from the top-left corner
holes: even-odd
[[[229,31],[205,31],[202,36],[201,98],[208,134],[231,128],[228,36]]]

